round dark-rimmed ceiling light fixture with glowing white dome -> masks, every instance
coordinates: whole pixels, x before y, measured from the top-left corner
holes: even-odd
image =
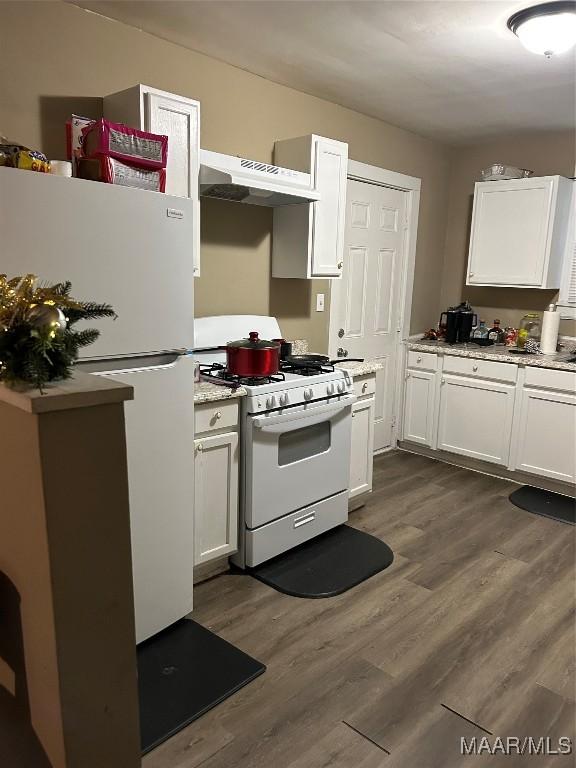
[[[510,16],[508,29],[533,53],[550,58],[576,45],[576,2],[543,3]]]

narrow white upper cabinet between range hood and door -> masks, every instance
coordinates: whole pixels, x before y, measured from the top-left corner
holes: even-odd
[[[320,200],[274,209],[272,276],[341,277],[348,145],[313,134],[277,141],[274,162],[310,173]]]

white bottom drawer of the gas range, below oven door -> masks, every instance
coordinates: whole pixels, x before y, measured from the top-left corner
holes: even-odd
[[[254,530],[246,530],[246,565],[254,567],[271,557],[329,531],[348,520],[348,491],[311,504]]]

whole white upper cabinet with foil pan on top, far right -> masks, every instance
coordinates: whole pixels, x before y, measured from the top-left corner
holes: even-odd
[[[477,182],[467,285],[560,288],[573,182]]]

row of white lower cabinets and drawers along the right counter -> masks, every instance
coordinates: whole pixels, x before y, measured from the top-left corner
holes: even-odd
[[[576,373],[410,350],[402,437],[576,482]],[[420,370],[428,368],[428,370]]]

